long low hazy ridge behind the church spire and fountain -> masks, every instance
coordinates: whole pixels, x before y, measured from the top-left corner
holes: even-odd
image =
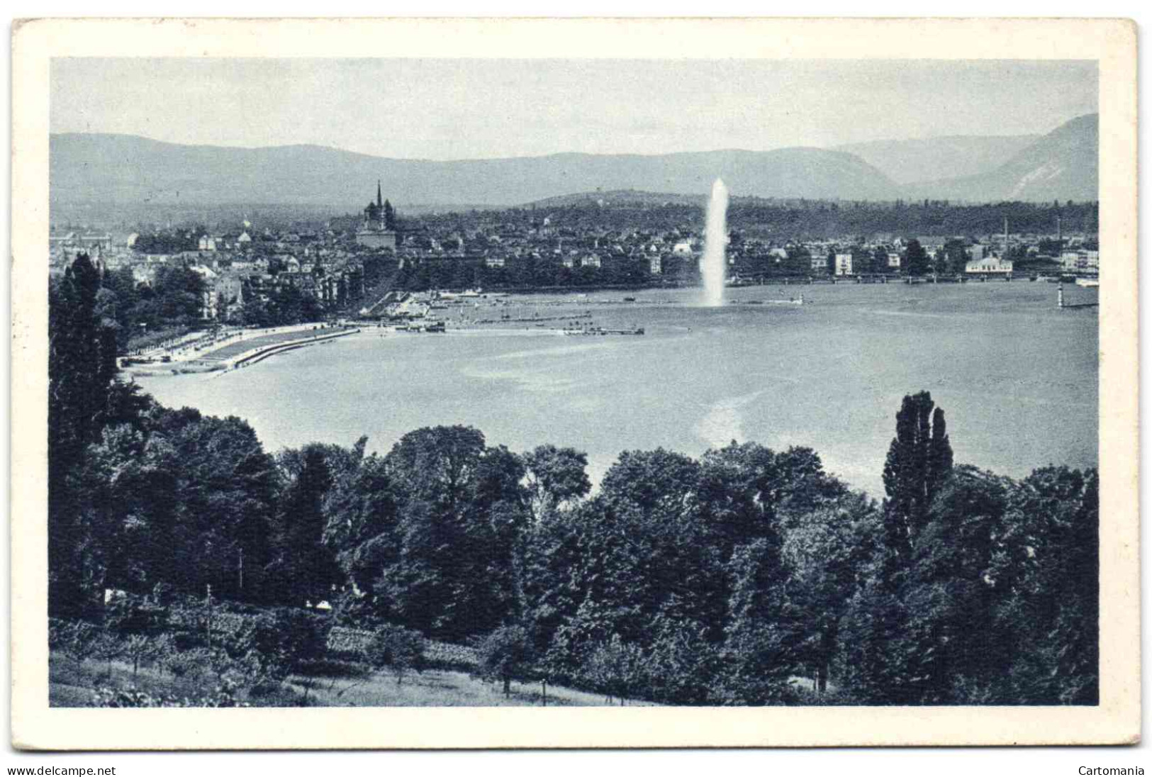
[[[359,208],[384,182],[396,204],[510,205],[574,191],[702,194],[720,176],[734,195],[881,199],[897,195],[878,169],[842,151],[778,149],[672,154],[559,153],[431,161],[314,145],[190,146],[131,135],[51,138],[52,198],[151,203],[285,203]]]

